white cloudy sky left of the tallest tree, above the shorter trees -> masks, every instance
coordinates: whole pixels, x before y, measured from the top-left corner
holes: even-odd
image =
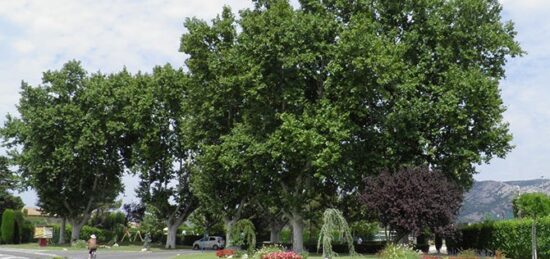
[[[224,4],[236,12],[248,0],[0,1],[0,124],[14,114],[21,80],[40,83],[42,72],[70,59],[88,71],[150,71],[155,65],[181,66],[178,52],[183,22],[210,20]],[[0,153],[2,150],[0,150]],[[133,199],[135,177],[126,177],[125,200]],[[22,194],[33,205],[33,192]]]

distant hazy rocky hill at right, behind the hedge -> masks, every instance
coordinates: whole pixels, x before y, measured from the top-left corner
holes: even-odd
[[[484,217],[512,218],[512,199],[518,193],[526,192],[550,194],[550,180],[475,182],[472,189],[464,196],[464,204],[460,210],[458,221],[476,222],[481,221]]]

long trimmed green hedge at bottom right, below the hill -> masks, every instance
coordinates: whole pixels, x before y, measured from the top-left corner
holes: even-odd
[[[461,229],[457,240],[448,240],[450,250],[502,251],[509,258],[531,258],[531,219],[477,223]],[[537,252],[550,259],[550,217],[537,221]]]

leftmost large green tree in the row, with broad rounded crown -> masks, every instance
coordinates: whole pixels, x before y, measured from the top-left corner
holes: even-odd
[[[42,84],[22,83],[19,117],[2,129],[20,175],[38,194],[47,213],[66,217],[71,241],[91,212],[122,190],[124,125],[117,82],[89,75],[70,61],[43,74]]]

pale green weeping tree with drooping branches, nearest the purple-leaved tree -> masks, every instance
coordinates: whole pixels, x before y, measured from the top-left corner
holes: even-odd
[[[337,254],[332,250],[332,241],[336,237],[337,240],[344,240],[348,243],[349,253],[357,255],[353,247],[353,237],[348,222],[342,215],[342,212],[337,209],[326,209],[323,213],[323,226],[319,232],[319,240],[317,241],[317,250],[323,244],[323,258],[333,258]]]

